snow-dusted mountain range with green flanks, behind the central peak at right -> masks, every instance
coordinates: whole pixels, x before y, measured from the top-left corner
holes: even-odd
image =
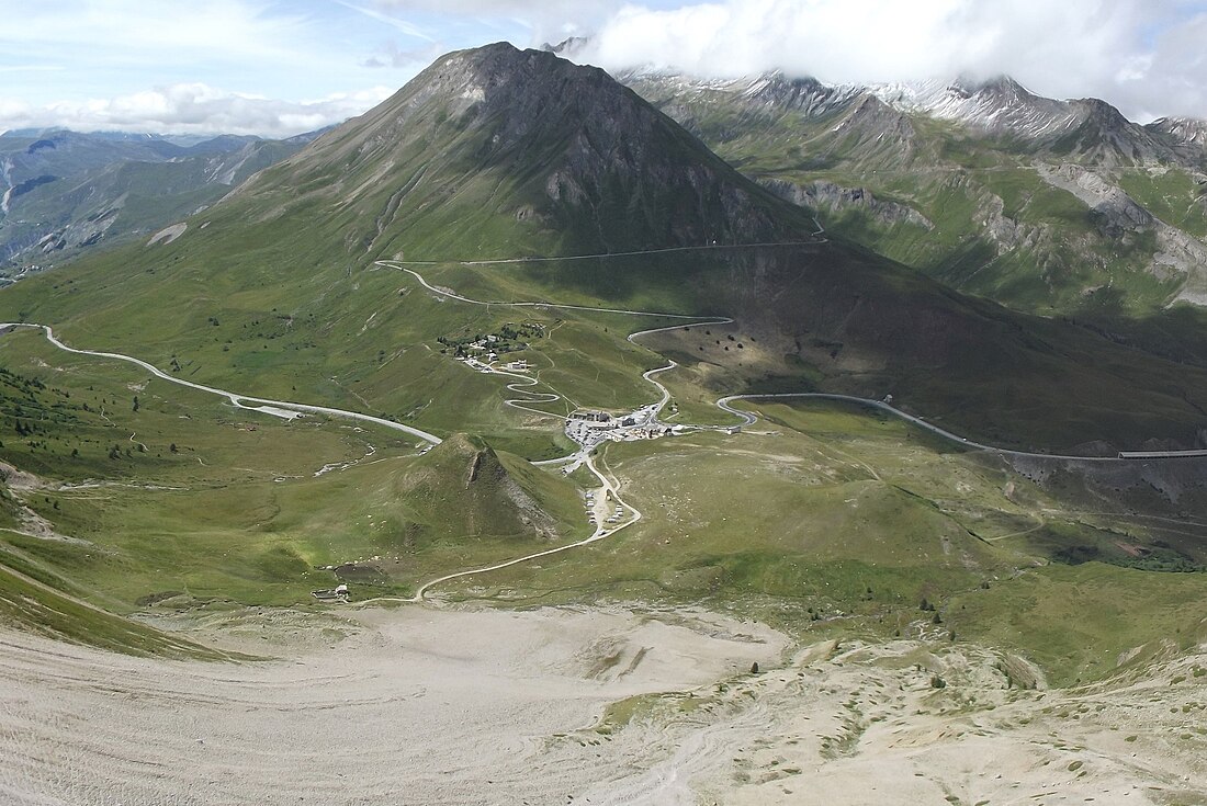
[[[1207,304],[1207,123],[1018,82],[620,80],[745,174],[955,288],[1112,317]]]

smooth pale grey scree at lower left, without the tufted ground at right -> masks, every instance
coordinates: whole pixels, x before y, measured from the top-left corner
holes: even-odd
[[[704,613],[672,624],[623,609],[358,618],[348,637],[328,630],[332,646],[245,664],[0,632],[0,802],[565,802],[629,770],[577,744],[550,754],[555,735],[594,724],[614,700],[775,665],[786,646]],[[307,629],[268,621],[234,631],[241,648],[275,653],[282,632]],[[258,647],[256,626],[270,638]]]

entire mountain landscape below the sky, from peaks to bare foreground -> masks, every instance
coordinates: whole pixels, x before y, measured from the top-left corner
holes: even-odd
[[[1205,132],[501,43],[0,138],[0,795],[1207,801]]]

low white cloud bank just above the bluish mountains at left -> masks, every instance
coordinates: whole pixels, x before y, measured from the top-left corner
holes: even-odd
[[[34,107],[0,99],[8,128],[64,127],[80,132],[164,134],[257,134],[291,136],[340,123],[392,93],[375,87],[310,101],[240,95],[204,83],[182,83],[112,99],[63,101]]]

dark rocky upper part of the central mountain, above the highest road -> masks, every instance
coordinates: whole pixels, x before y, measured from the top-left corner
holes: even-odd
[[[506,42],[438,59],[240,194],[304,203],[297,187],[369,222],[349,243],[365,251],[611,252],[812,232],[605,71]]]

